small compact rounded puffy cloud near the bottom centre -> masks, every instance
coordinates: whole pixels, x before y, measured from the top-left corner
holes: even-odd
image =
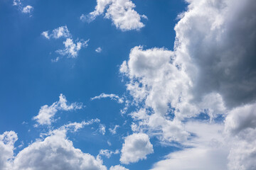
[[[121,150],[120,162],[129,164],[146,159],[146,155],[154,152],[149,136],[144,133],[134,133],[125,138]]]

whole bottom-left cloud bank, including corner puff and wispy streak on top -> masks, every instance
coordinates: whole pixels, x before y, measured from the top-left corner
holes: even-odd
[[[96,159],[90,154],[83,153],[73,146],[73,142],[67,139],[68,130],[73,132],[85,125],[91,125],[98,120],[90,120],[82,123],[70,123],[48,132],[48,136],[38,139],[28,147],[18,152],[13,157],[14,142],[17,135],[15,132],[4,132],[0,135],[0,150],[4,157],[0,156],[0,169],[99,169],[106,170],[101,159]],[[12,159],[14,158],[14,159]],[[3,163],[3,164],[2,164]],[[1,167],[3,166],[3,167]]]

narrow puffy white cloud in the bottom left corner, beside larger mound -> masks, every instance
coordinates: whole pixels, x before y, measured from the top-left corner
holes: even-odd
[[[14,143],[16,140],[18,140],[18,136],[14,131],[4,132],[0,135],[0,169],[9,169],[9,160],[14,157]]]

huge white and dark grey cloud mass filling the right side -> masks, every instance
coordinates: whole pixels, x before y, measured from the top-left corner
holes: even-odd
[[[256,3],[187,2],[174,51],[137,46],[120,67],[139,103],[132,130],[191,147],[152,169],[255,169]]]

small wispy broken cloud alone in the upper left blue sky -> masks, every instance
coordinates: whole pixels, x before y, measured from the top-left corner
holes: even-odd
[[[58,53],[61,56],[66,56],[68,58],[76,58],[78,57],[78,52],[83,48],[87,47],[89,39],[88,40],[73,40],[72,35],[70,34],[70,31],[68,30],[67,26],[60,26],[58,28],[55,28],[52,33],[49,33],[48,31],[43,31],[41,33],[43,37],[50,40],[53,39],[59,39],[59,38],[65,38],[63,41],[64,48],[56,50],[55,52]],[[60,60],[60,57],[56,57],[52,62],[58,62]]]

